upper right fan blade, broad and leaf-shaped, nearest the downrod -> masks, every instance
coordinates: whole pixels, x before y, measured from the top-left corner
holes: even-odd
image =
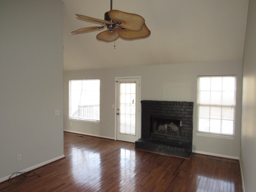
[[[133,13],[122,12],[119,10],[110,10],[108,12],[108,16],[115,23],[120,22],[121,24],[119,26],[132,31],[142,30],[142,26],[145,23],[145,20],[142,16]]]

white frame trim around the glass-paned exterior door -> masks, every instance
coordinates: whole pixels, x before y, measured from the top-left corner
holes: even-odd
[[[141,137],[141,76],[127,76],[127,77],[116,77],[115,78],[115,140],[117,140],[117,80],[118,79],[134,79],[134,78],[138,78],[139,79],[139,96],[138,96],[138,107],[139,107],[139,117],[138,117],[138,125],[139,125],[139,138]],[[137,93],[136,93],[137,94]],[[137,102],[137,101],[136,101]],[[137,119],[136,119],[137,120]]]

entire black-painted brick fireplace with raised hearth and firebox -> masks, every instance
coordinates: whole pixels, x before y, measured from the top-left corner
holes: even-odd
[[[143,100],[141,104],[142,132],[135,148],[189,158],[194,103]]]

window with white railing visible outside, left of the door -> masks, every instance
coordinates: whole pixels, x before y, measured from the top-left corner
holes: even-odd
[[[100,80],[70,80],[69,117],[100,120]]]

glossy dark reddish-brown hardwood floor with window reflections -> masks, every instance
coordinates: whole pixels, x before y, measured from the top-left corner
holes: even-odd
[[[242,192],[237,160],[134,150],[134,143],[64,132],[66,158],[0,184],[1,192]],[[222,160],[222,162],[218,162]]]

